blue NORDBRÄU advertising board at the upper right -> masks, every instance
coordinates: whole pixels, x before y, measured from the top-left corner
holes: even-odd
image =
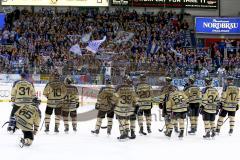
[[[240,17],[196,17],[195,30],[204,34],[240,34]]]

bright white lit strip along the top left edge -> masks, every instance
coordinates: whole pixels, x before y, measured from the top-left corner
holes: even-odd
[[[7,6],[94,6],[107,7],[109,0],[2,0]]]

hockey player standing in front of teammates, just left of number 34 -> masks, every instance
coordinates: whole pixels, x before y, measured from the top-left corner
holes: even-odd
[[[170,93],[168,101],[166,103],[167,114],[170,117],[171,121],[168,126],[167,132],[165,135],[171,137],[173,125],[179,123],[180,133],[179,138],[183,137],[184,134],[184,119],[188,111],[187,107],[188,98],[183,91],[178,91],[177,89]]]

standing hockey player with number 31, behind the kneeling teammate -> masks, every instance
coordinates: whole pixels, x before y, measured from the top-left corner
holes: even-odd
[[[14,121],[13,117],[16,111],[21,106],[31,104],[33,98],[36,95],[33,84],[26,80],[27,75],[25,73],[21,73],[20,77],[20,80],[14,82],[11,91],[11,101],[13,102],[13,108],[10,115],[9,126],[7,128],[9,132],[13,131],[13,126],[11,126],[11,122]]]

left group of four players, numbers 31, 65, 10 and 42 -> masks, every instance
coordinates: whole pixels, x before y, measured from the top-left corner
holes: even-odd
[[[20,129],[24,138],[20,140],[20,146],[30,146],[34,135],[39,130],[41,112],[38,108],[41,101],[36,97],[32,83],[27,81],[27,75],[22,73],[21,79],[13,84],[11,101],[13,108],[10,115],[8,131],[15,132]],[[54,111],[55,128],[59,132],[60,118],[63,117],[65,132],[69,131],[69,115],[72,120],[72,127],[77,131],[77,108],[79,107],[79,93],[77,87],[72,85],[71,77],[66,77],[64,82],[60,80],[57,72],[50,76],[49,82],[44,88],[43,95],[47,98],[45,110],[45,132],[49,132],[50,118]]]

